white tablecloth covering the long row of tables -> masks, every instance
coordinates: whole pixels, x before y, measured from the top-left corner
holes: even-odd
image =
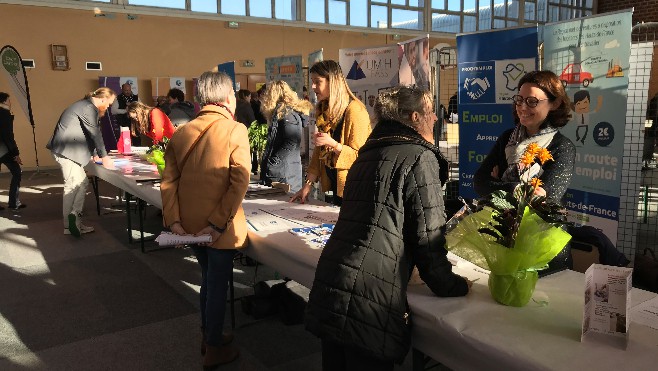
[[[159,189],[136,181],[130,173],[100,166],[87,169],[150,204],[162,205]],[[287,196],[245,199],[243,207],[249,218],[252,212],[276,205],[291,206],[287,199]],[[322,214],[339,211],[332,206],[324,208]],[[282,221],[280,227],[259,231],[252,228],[245,251],[281,274],[311,287],[321,250],[290,233],[290,222]],[[300,225],[307,222],[301,221]],[[533,299],[548,304],[533,301],[523,308],[514,308],[494,302],[487,288],[486,273],[468,262],[460,262],[454,269],[458,274],[477,279],[468,296],[438,298],[424,285],[410,286],[407,295],[412,312],[413,346],[450,368],[658,370],[658,330],[631,323],[626,350],[597,342],[580,342],[585,286],[581,273],[563,271],[541,278]],[[655,296],[639,289],[631,291],[633,305]]]

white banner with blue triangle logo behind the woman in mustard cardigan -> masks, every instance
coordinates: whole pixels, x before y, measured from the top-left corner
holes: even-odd
[[[370,117],[379,92],[398,85],[399,46],[340,49],[338,62],[347,85],[366,105]]]

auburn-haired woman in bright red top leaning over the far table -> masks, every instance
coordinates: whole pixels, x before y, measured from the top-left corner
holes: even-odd
[[[171,139],[174,135],[174,124],[159,108],[149,107],[142,102],[132,102],[126,107],[130,120],[133,137],[144,134],[153,140],[153,144],[162,142],[162,138]],[[135,130],[137,129],[137,130]]]

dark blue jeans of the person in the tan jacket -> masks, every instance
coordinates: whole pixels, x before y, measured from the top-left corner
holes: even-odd
[[[206,344],[220,346],[226,314],[226,292],[233,274],[233,256],[236,250],[192,246],[201,266],[201,327]]]

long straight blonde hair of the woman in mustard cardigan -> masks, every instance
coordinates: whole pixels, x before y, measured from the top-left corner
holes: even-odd
[[[347,85],[347,81],[343,76],[343,71],[336,61],[325,60],[317,62],[308,70],[308,73],[315,73],[316,75],[329,80],[329,98],[327,99],[329,107],[325,114],[325,119],[327,121],[336,124],[342,120],[345,110],[350,104],[350,100],[356,100],[363,105],[363,102],[361,102],[359,98],[352,93],[352,90],[350,90],[350,87]],[[320,112],[321,106],[320,102],[318,102],[316,107],[317,116],[322,113]]]

